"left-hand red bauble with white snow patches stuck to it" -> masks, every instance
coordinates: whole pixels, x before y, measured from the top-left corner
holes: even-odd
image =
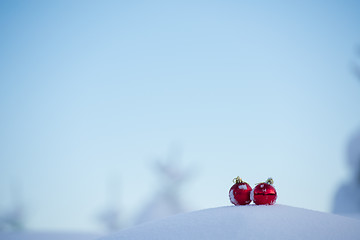
[[[249,184],[241,180],[240,177],[234,179],[234,185],[230,188],[229,198],[234,205],[247,205],[251,202],[250,192],[252,188]]]

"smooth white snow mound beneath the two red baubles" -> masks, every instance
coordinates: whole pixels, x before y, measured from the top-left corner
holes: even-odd
[[[284,205],[228,206],[171,216],[101,240],[359,239],[360,221]]]

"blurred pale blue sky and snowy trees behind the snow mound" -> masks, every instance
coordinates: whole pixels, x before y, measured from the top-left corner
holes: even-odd
[[[340,195],[360,212],[359,11],[1,1],[0,230],[105,232],[227,206],[236,176],[271,176],[277,203],[324,212],[350,184]]]

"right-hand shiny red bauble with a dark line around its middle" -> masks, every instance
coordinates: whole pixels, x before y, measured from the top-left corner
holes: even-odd
[[[266,182],[256,185],[251,191],[251,200],[256,205],[273,205],[277,198],[276,190],[272,186],[273,183],[272,178],[269,178]]]

